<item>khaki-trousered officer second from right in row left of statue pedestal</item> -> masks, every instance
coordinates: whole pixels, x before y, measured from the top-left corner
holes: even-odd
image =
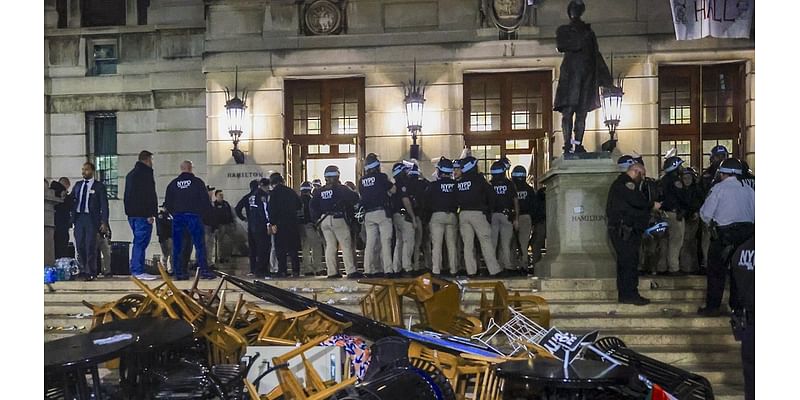
[[[494,192],[492,201],[492,246],[497,249],[498,261],[504,270],[514,268],[511,263],[511,240],[517,228],[519,202],[517,188],[506,178],[506,168],[502,161],[492,163],[490,183]],[[499,241],[499,248],[498,248]]]

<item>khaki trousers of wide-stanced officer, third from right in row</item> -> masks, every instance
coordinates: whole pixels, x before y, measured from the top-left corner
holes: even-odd
[[[480,211],[465,210],[458,216],[461,230],[461,238],[464,241],[464,263],[467,266],[467,273],[474,275],[478,273],[478,260],[475,257],[475,237],[481,246],[481,254],[486,262],[486,267],[492,275],[500,273],[502,268],[497,263],[495,248],[492,247],[492,227],[486,220],[486,215]]]

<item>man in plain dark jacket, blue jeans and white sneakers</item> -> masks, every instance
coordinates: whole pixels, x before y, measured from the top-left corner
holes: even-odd
[[[139,161],[125,176],[123,202],[128,224],[133,231],[131,275],[146,281],[157,279],[157,276],[144,272],[145,252],[153,234],[153,222],[158,215],[156,181],[153,178],[153,153],[147,150],[139,153]]]

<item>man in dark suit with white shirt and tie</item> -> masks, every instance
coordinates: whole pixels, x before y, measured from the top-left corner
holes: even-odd
[[[75,250],[85,280],[97,277],[97,232],[108,231],[108,196],[103,182],[94,179],[95,167],[83,163],[83,180],[72,188],[72,223],[75,226]]]

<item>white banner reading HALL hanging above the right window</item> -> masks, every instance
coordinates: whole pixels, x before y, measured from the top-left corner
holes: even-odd
[[[677,40],[747,39],[755,0],[670,0]]]

